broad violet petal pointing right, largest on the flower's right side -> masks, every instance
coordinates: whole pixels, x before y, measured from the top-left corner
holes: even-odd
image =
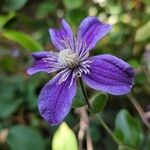
[[[91,88],[113,95],[122,95],[131,91],[134,82],[133,68],[123,60],[109,55],[89,58],[90,74],[84,74],[83,80]]]

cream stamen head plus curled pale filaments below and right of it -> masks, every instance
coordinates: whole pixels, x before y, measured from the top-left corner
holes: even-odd
[[[69,84],[70,88],[73,84],[74,78],[81,77],[82,74],[90,74],[91,62],[91,60],[81,60],[78,54],[70,48],[60,51],[58,54],[58,63],[66,69],[62,73],[62,77],[58,81],[58,85],[66,81],[70,74],[73,73]]]

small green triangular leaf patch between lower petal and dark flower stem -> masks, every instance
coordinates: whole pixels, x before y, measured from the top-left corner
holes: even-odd
[[[77,107],[82,107],[84,105],[85,105],[84,96],[83,96],[81,88],[78,87],[77,88],[77,93],[76,93],[76,95],[74,97],[74,100],[73,100],[72,107],[77,108]]]

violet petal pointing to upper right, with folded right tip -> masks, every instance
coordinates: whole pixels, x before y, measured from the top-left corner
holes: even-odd
[[[96,17],[86,17],[79,26],[76,50],[79,53],[91,50],[111,28],[111,25],[100,22]]]

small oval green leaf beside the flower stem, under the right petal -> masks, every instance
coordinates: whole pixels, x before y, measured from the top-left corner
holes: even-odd
[[[107,95],[106,94],[97,94],[93,97],[93,102],[91,105],[90,112],[93,114],[99,113],[102,111],[107,102]]]

